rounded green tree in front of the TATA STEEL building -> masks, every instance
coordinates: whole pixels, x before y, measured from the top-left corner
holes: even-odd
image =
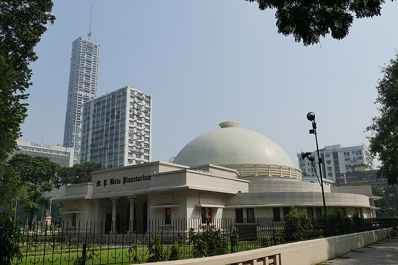
[[[26,154],[16,154],[8,162],[8,166],[15,170],[28,187],[27,199],[23,201],[23,208],[29,214],[29,229],[33,217],[39,210],[39,204],[48,203],[48,198],[43,196],[45,191],[51,191],[53,185],[59,187],[57,171],[59,165],[48,157],[32,157]]]

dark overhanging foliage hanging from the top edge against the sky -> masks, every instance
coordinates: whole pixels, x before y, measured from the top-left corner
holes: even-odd
[[[292,35],[304,46],[316,44],[319,37],[331,33],[341,40],[348,35],[356,18],[380,15],[384,0],[246,0],[256,1],[260,10],[277,9],[275,17],[278,33]],[[392,0],[393,1],[393,0]]]

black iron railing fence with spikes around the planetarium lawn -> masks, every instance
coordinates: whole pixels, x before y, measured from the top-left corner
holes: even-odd
[[[350,219],[351,220],[351,219]],[[376,218],[320,222],[299,227],[273,218],[149,220],[120,224],[120,233],[105,233],[105,224],[77,222],[41,226],[21,225],[21,260],[15,265],[113,265],[168,261],[263,248],[282,243],[389,228],[397,219]],[[131,229],[130,229],[131,227]],[[146,231],[139,232],[138,228]],[[134,231],[135,229],[135,231]],[[109,229],[108,229],[109,230]],[[131,231],[129,231],[131,230]],[[313,230],[308,233],[308,230]],[[115,229],[116,231],[116,229]],[[303,231],[306,236],[302,237]],[[293,235],[293,234],[298,234]],[[300,234],[301,233],[301,234]]]

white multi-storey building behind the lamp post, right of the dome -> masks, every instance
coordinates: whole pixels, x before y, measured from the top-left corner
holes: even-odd
[[[310,151],[311,157],[315,159],[315,169],[308,159],[302,159],[301,154],[297,154],[298,165],[303,172],[303,180],[319,176],[318,156],[316,151]],[[319,156],[322,159],[322,177],[336,181],[341,174],[374,170],[373,158],[369,153],[368,147],[364,144],[357,146],[342,147],[341,145],[329,145],[319,149]],[[305,174],[304,174],[305,173]]]

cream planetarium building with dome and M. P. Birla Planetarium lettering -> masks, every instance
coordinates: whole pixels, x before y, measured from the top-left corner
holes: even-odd
[[[188,143],[173,163],[96,171],[92,182],[67,185],[58,201],[64,204],[68,228],[79,220],[94,221],[101,224],[96,230],[126,233],[147,231],[150,220],[164,225],[205,216],[279,221],[292,207],[314,217],[323,212],[321,186],[303,182],[302,172],[278,144],[237,122],[219,126]],[[324,186],[324,195],[327,211],[376,216],[379,197],[370,186]]]

